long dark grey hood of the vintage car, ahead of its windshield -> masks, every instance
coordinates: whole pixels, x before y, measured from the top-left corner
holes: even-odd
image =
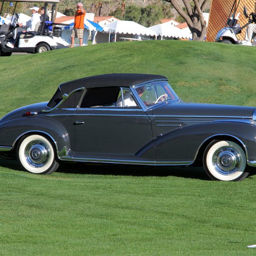
[[[153,109],[154,116],[252,118],[255,107],[173,102]]]

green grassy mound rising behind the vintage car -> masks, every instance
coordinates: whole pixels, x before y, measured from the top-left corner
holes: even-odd
[[[184,101],[256,105],[254,47],[205,42],[116,42],[1,57],[0,116],[49,101],[60,83],[106,73],[168,77]]]

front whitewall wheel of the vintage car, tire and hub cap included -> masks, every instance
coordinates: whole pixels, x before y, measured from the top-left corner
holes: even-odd
[[[249,175],[245,151],[229,140],[213,140],[203,153],[203,167],[213,180],[242,181]]]

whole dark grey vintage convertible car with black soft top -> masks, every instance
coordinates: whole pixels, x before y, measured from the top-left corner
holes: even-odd
[[[40,174],[59,161],[200,163],[211,179],[241,181],[256,166],[256,108],[182,102],[160,75],[85,77],[4,116],[0,151]]]

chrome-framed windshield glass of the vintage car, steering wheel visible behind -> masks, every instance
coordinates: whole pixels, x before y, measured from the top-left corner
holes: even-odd
[[[136,87],[135,91],[147,107],[159,102],[179,99],[167,82],[142,85]]]

